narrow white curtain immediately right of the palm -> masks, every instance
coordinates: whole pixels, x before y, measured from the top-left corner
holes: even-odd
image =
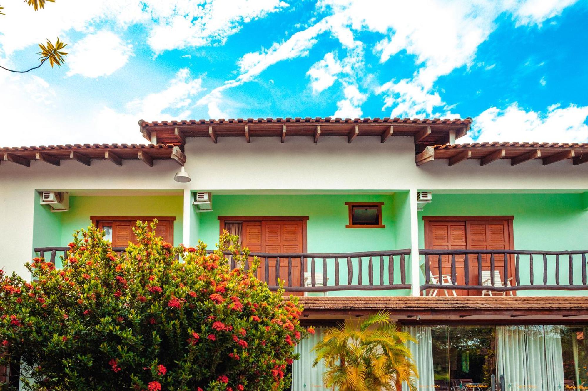
[[[415,379],[417,389],[422,391],[435,390],[435,374],[433,373],[433,339],[431,338],[430,327],[407,327],[407,331],[416,339],[415,342],[408,342],[407,346],[415,360],[416,368],[419,371],[419,378]],[[402,390],[407,391],[408,385],[404,383]]]

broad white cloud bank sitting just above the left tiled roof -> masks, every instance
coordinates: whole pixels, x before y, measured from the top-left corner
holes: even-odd
[[[34,117],[41,131],[9,132],[0,128],[2,146],[31,146],[74,143],[145,143],[137,122],[189,116],[192,98],[202,92],[202,80],[181,69],[160,92],[136,99],[118,111],[108,106],[82,106],[66,102],[41,77],[0,73],[0,107],[5,123],[20,123]],[[106,126],[105,126],[106,124]],[[35,127],[35,129],[39,129]]]

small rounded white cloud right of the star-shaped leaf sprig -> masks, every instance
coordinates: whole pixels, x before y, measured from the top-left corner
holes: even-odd
[[[122,68],[133,55],[132,46],[108,30],[86,35],[72,48],[66,61],[68,76],[108,76]]]

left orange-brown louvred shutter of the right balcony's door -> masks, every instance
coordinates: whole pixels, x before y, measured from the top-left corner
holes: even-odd
[[[466,242],[466,222],[465,221],[429,221],[425,235],[427,248],[433,250],[465,250]],[[465,285],[463,255],[456,256],[456,284]],[[439,273],[439,258],[436,256],[429,257],[431,275],[449,275],[451,276],[451,257],[443,255],[441,257],[441,272]],[[471,277],[470,277],[471,278]],[[451,279],[451,277],[449,277]],[[449,280],[450,281],[450,280]],[[443,281],[444,283],[446,281]],[[467,292],[456,291],[457,295],[467,295]],[[442,291],[437,295],[443,295]]]

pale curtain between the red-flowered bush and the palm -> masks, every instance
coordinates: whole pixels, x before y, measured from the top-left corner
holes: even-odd
[[[325,365],[323,361],[319,362],[315,368],[312,363],[315,361],[316,352],[312,349],[323,339],[325,328],[315,328],[315,334],[309,338],[303,339],[296,345],[295,352],[300,353],[300,358],[292,363],[292,391],[305,390],[331,390],[323,386],[323,373]]]

